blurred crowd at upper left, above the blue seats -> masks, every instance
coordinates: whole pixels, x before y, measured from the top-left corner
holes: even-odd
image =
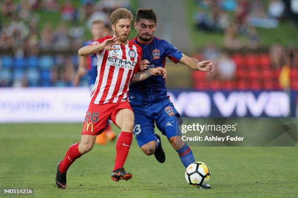
[[[85,27],[90,28],[94,19],[108,24],[111,12],[118,7],[128,8],[129,0],[80,0],[77,7],[72,0],[3,0],[0,50],[13,49],[21,56],[36,55],[39,50],[78,49],[84,42]],[[54,20],[59,22],[40,19],[40,13],[54,12],[47,16],[58,16]]]

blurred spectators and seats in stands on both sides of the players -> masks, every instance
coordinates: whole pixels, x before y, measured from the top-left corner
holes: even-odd
[[[267,52],[251,53],[260,46],[257,28],[274,28],[283,20],[283,1],[195,1],[196,26],[200,31],[223,33],[224,47],[232,53],[212,43],[205,46],[197,58],[211,60],[214,73],[194,71],[194,88],[276,89],[281,87],[282,73],[285,79],[294,79],[291,83],[298,90],[297,46],[276,43]],[[101,20],[110,27],[109,16],[119,7],[130,8],[130,0],[1,0],[0,87],[72,86],[76,52],[92,39],[86,38],[92,22]],[[244,46],[250,52],[238,53]],[[287,67],[292,71],[283,69]],[[80,85],[87,85],[87,79]]]

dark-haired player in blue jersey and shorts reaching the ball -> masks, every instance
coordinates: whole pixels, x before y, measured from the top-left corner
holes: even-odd
[[[140,70],[164,68],[168,57],[174,63],[181,63],[190,69],[212,72],[210,61],[199,62],[186,56],[166,40],[153,36],[156,22],[157,17],[153,9],[137,11],[134,28],[138,35],[133,41],[141,46],[143,51]],[[181,138],[179,125],[182,119],[169,100],[165,79],[161,76],[151,76],[145,81],[130,84],[129,99],[135,115],[133,133],[145,154],[154,154],[160,163],[166,160],[160,136],[154,132],[155,123],[162,134],[167,136],[185,167],[195,161],[191,149]]]

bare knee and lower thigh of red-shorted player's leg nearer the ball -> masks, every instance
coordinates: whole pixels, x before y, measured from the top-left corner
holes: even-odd
[[[132,132],[134,115],[130,109],[121,109],[118,111],[115,117],[116,125],[123,132]]]

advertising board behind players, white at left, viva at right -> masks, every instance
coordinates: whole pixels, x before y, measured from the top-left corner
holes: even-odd
[[[201,92],[169,90],[185,117],[296,116],[296,93],[281,91]],[[90,90],[84,88],[0,89],[0,122],[82,122]]]

